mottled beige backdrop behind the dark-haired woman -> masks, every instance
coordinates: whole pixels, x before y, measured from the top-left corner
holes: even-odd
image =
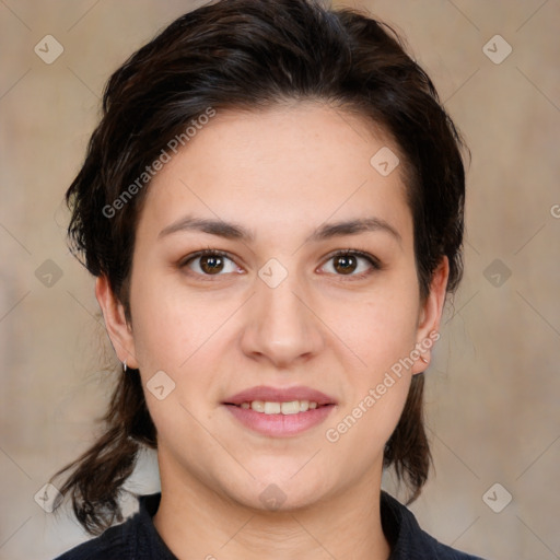
[[[48,559],[85,538],[34,501],[92,441],[112,377],[93,280],[65,245],[61,200],[110,72],[195,5],[0,0],[1,559]],[[354,5],[407,36],[472,151],[466,276],[427,374],[436,472],[411,509],[440,540],[489,559],[560,558],[560,3]],[[34,52],[48,34],[65,49],[52,65]],[[513,48],[499,65],[482,50],[497,34]],[[47,259],[62,273],[50,287]],[[505,282],[488,269],[494,259],[511,271]],[[158,488],[153,460],[136,481]],[[483,501],[495,482],[513,497],[500,513]],[[489,503],[503,505],[503,492]]]

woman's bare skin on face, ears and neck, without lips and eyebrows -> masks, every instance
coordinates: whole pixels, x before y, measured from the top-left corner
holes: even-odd
[[[398,152],[371,124],[319,103],[219,113],[150,185],[136,232],[130,324],[97,279],[119,359],[140,369],[144,387],[158,371],[175,383],[163,400],[145,397],[159,434],[154,523],[178,558],[389,556],[378,508],[383,448],[412,375],[427,364],[416,360],[336,443],[325,436],[438,330],[445,300],[446,258],[420,299],[400,168],[384,177],[370,165],[384,145]],[[160,236],[186,214],[235,222],[255,238]],[[366,217],[399,238],[377,230],[305,242],[325,222]],[[200,259],[184,265],[208,247],[231,255],[218,275]],[[343,249],[366,252],[382,268],[359,257],[343,273],[332,258]],[[288,272],[276,288],[258,277],[270,258]],[[265,436],[221,405],[260,384],[306,385],[338,406],[304,433]],[[259,499],[271,483],[285,495],[277,511]]]

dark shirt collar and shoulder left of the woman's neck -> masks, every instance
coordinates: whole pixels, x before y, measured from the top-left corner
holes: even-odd
[[[160,498],[159,493],[140,497],[139,511],[132,517],[55,560],[175,560],[152,521]]]

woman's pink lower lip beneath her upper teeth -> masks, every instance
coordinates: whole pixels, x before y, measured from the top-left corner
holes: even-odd
[[[298,435],[310,430],[320,424],[335,408],[334,405],[326,405],[296,415],[265,415],[234,405],[225,405],[225,407],[246,428],[276,438]]]

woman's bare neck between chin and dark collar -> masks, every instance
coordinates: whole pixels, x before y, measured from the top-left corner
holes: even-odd
[[[290,511],[266,511],[220,495],[201,480],[162,468],[154,525],[179,559],[386,560],[381,472],[339,495]]]

